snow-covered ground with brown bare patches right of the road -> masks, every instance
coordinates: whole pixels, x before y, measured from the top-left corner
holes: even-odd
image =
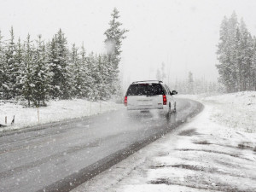
[[[203,112],[73,191],[255,191],[256,92],[182,97]]]

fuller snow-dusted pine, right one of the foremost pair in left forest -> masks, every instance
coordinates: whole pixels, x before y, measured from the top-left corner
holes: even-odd
[[[49,95],[49,66],[47,63],[46,50],[42,36],[38,35],[36,49],[33,56],[32,82],[35,86],[32,89],[32,99],[35,106],[46,106],[45,101]]]

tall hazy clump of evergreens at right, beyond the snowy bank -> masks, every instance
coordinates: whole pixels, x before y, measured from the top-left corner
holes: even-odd
[[[234,12],[228,20],[224,17],[218,44],[219,80],[228,92],[253,90],[254,45],[244,21],[237,21]]]

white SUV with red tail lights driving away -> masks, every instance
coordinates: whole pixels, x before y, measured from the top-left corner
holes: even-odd
[[[162,81],[148,80],[133,82],[125,95],[127,110],[149,111],[157,109],[160,112],[176,112],[176,102],[172,95],[177,91],[169,90]]]

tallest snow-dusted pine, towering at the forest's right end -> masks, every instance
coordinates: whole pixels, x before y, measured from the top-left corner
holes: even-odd
[[[122,24],[118,21],[118,9],[114,8],[111,16],[112,20],[109,22],[109,28],[104,32],[106,35],[104,43],[106,44],[109,67],[111,67],[108,70],[111,77],[111,81],[109,82],[111,87],[109,87],[109,89],[111,94],[115,95],[119,89],[119,61],[121,60],[120,55],[122,52],[121,45],[122,40],[126,38],[125,32],[128,32],[128,30],[120,28]]]

